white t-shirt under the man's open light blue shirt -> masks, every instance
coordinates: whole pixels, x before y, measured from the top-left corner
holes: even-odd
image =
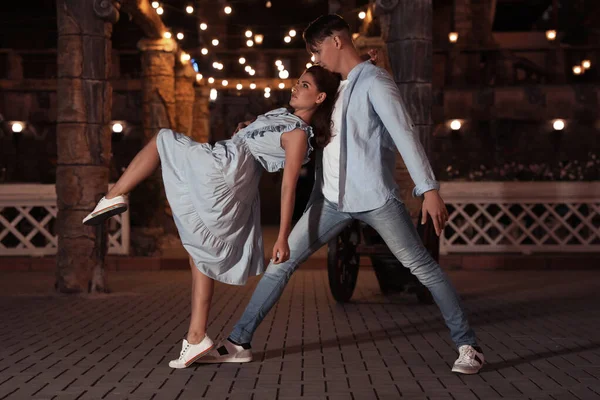
[[[337,203],[340,192],[340,131],[342,129],[342,112],[344,91],[348,80],[340,82],[338,97],[331,114],[331,140],[323,149],[323,196],[332,203]]]

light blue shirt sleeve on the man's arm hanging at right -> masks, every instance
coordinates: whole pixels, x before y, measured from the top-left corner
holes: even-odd
[[[421,196],[434,189],[439,190],[440,185],[433,175],[431,164],[404,106],[398,86],[384,70],[380,70],[373,79],[369,88],[369,101],[389,132],[415,183],[413,196]]]

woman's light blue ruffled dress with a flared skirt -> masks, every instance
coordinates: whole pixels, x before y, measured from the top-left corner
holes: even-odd
[[[243,285],[264,271],[258,184],[285,165],[281,135],[312,128],[285,108],[270,111],[214,146],[170,129],[157,136],[167,200],[179,236],[200,272]]]

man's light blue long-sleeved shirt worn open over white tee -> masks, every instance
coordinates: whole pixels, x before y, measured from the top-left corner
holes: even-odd
[[[399,199],[394,179],[396,149],[415,183],[414,196],[439,189],[398,86],[387,71],[365,61],[350,71],[348,81],[340,130],[338,210],[369,211],[390,197]],[[323,198],[319,153],[309,206]]]

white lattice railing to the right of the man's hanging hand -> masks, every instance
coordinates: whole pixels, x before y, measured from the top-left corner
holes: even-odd
[[[444,182],[448,253],[600,252],[600,182]]]

